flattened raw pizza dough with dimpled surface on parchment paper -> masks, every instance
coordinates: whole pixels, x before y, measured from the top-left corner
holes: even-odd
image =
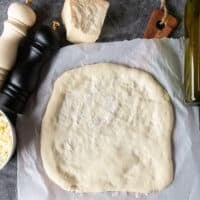
[[[144,71],[108,63],[67,71],[43,118],[43,166],[68,191],[160,191],[173,180],[173,121],[167,92]]]

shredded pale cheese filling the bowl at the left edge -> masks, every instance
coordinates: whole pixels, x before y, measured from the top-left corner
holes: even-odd
[[[13,150],[12,127],[6,116],[0,112],[0,169],[8,162]]]

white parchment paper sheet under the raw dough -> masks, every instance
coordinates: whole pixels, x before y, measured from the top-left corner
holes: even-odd
[[[99,62],[125,64],[153,74],[169,92],[176,114],[173,134],[174,181],[164,191],[137,199],[200,199],[200,132],[198,108],[183,103],[183,39],[142,40],[73,45],[62,48],[27,112],[17,122],[18,200],[133,200],[133,193],[79,194],[60,189],[42,167],[40,126],[54,81],[66,70]],[[162,112],[162,111],[161,111]],[[55,133],[56,134],[56,133]],[[109,170],[109,166],[108,166]]]

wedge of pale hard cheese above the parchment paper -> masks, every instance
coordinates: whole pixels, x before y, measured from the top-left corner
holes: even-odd
[[[95,42],[109,8],[106,0],[65,0],[62,19],[67,40],[73,43]]]

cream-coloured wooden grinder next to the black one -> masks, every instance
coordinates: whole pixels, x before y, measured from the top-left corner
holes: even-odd
[[[35,21],[36,14],[28,5],[16,2],[9,6],[0,36],[0,88],[16,61],[20,41]]]

